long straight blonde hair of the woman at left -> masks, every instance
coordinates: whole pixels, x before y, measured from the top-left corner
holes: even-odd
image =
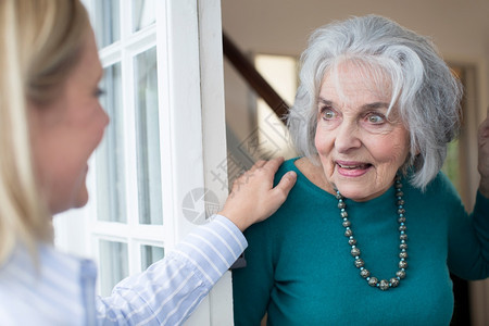
[[[32,162],[29,103],[49,104],[89,30],[79,0],[0,1],[0,265],[17,243],[52,241]]]

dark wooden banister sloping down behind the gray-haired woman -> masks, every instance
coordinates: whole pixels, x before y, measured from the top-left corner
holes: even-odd
[[[269,108],[281,117],[289,111],[289,105],[269,86],[263,76],[256,71],[250,60],[242,54],[241,50],[223,32],[223,52],[238,73],[247,80],[253,90],[268,104]]]

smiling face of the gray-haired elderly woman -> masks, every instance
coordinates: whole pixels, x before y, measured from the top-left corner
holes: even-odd
[[[321,86],[315,146],[327,190],[365,201],[392,185],[409,154],[409,133],[396,112],[386,116],[387,82],[379,89],[351,63],[341,63],[338,76],[326,74]]]

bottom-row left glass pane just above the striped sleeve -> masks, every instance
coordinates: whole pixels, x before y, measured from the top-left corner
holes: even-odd
[[[129,275],[127,243],[100,240],[101,296],[110,296],[114,286]]]

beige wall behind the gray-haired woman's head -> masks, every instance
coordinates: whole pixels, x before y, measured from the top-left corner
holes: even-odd
[[[223,28],[247,53],[300,55],[318,26],[371,13],[430,36],[448,61],[476,65],[481,121],[489,99],[487,0],[222,0]],[[238,136],[246,136],[251,124],[243,117],[247,92],[229,65],[225,80],[227,121]]]

